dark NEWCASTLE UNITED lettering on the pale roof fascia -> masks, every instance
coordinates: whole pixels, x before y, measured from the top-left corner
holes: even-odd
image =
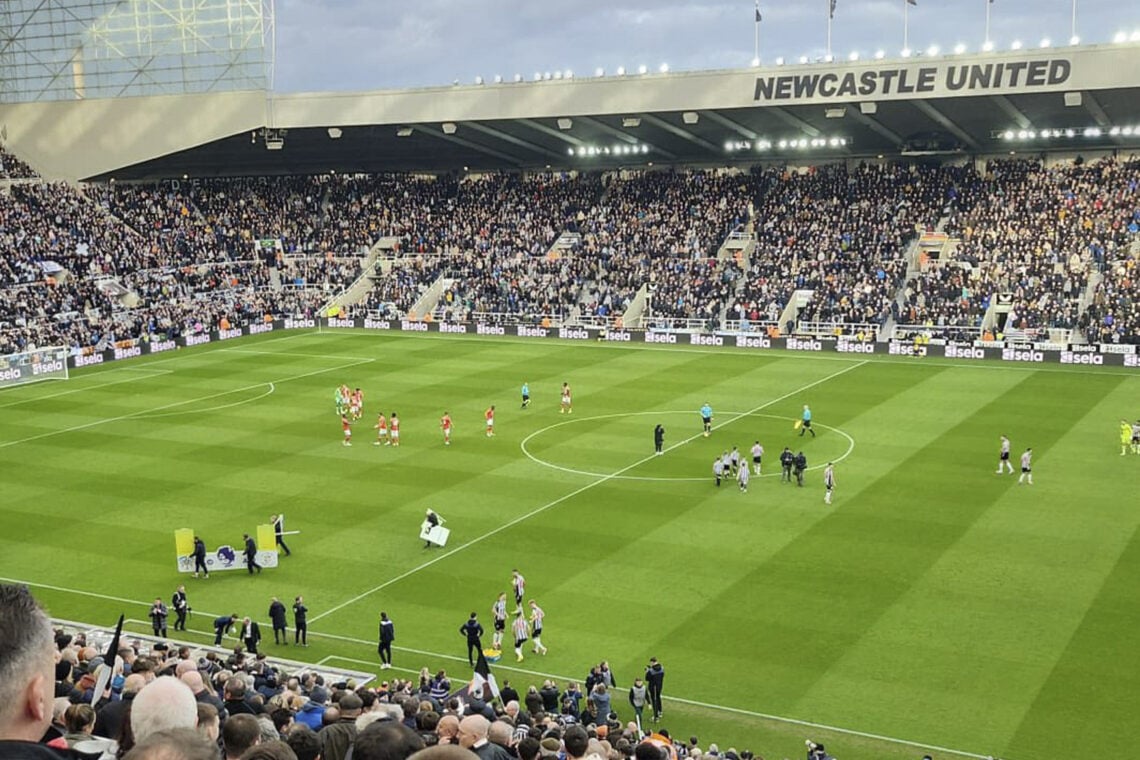
[[[788,104],[914,95],[937,98],[1007,90],[1024,92],[1062,87],[1072,76],[1073,62],[1069,58],[804,71],[757,76],[752,99],[757,103]]]

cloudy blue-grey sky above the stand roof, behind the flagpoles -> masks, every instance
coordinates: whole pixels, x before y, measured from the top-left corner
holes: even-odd
[[[276,0],[279,92],[473,84],[522,74],[612,75],[739,68],[755,46],[755,0]],[[760,58],[826,55],[829,0],[762,0]],[[977,51],[987,0],[917,0],[909,43]],[[905,0],[836,0],[832,52],[846,59],[903,49]],[[1054,46],[1072,35],[1073,0],[993,0],[991,39]],[[1077,0],[1082,43],[1140,39],[1140,1]]]

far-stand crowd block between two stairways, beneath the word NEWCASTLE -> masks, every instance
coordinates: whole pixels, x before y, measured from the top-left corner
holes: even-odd
[[[795,291],[814,291],[811,322],[881,326],[906,273],[919,230],[977,195],[972,169],[844,164],[769,170],[757,198],[747,284],[733,311],[773,319]]]

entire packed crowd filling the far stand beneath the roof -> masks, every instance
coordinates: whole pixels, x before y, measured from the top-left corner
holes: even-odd
[[[999,299],[997,333],[1140,342],[1138,161],[74,187],[0,152],[0,352],[314,316],[356,281],[351,314],[614,324],[643,293],[657,325],[970,336]],[[919,260],[935,227],[956,243]]]

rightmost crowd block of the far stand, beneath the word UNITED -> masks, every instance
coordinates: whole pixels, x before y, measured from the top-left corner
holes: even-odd
[[[906,284],[899,321],[979,328],[992,299],[1002,295],[1010,311],[995,332],[1044,337],[1050,328],[1081,328],[1105,342],[1134,335],[1140,325],[1127,294],[1140,231],[1138,182],[1134,161],[988,162],[976,203],[947,220],[961,243],[948,261],[933,262]],[[1097,272],[1105,279],[1082,313]],[[1114,313],[1122,310],[1131,326]]]

